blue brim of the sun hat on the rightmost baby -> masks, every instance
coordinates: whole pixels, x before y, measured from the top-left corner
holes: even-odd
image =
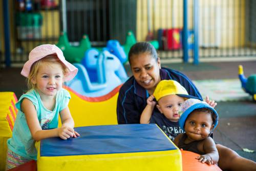
[[[215,121],[215,123],[214,123],[214,128],[213,128],[212,130],[214,130],[214,129],[216,128],[216,126],[218,125],[218,122],[219,122],[219,121],[218,121],[218,120],[219,120],[219,116],[218,116],[217,111],[216,111],[213,107],[211,107],[210,105],[208,105],[208,104],[196,103],[196,104],[190,106],[189,108],[187,108],[187,109],[184,111],[184,113],[182,113],[182,115],[180,116],[179,125],[180,125],[180,128],[181,128],[182,130],[185,131],[184,125],[185,125],[185,122],[186,122],[186,119],[187,119],[188,115],[189,115],[192,111],[194,111],[195,109],[200,109],[200,108],[208,108],[208,109],[214,111],[214,113],[215,113],[215,115],[216,115],[216,121]]]

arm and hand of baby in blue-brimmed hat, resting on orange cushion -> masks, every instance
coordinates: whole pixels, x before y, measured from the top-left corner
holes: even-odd
[[[202,163],[216,164],[219,161],[219,153],[212,138],[207,137],[203,142],[203,150],[206,153],[196,157]]]

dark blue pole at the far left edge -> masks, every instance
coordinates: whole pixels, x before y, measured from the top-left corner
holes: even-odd
[[[9,23],[9,6],[8,0],[3,1],[3,15],[5,28],[5,65],[11,66],[11,50],[10,50],[10,23]]]

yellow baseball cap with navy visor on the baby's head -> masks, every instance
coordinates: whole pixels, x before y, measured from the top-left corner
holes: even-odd
[[[172,94],[176,94],[180,97],[187,98],[187,99],[190,99],[190,98],[198,99],[197,97],[188,95],[187,90],[182,85],[180,85],[179,82],[175,80],[160,81],[153,93],[157,101],[164,96],[172,95]]]

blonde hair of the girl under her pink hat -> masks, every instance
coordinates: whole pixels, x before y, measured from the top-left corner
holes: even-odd
[[[46,56],[45,58],[42,58],[38,61],[36,61],[30,68],[29,77],[27,79],[28,81],[28,89],[29,91],[32,89],[36,89],[36,84],[32,83],[32,79],[36,77],[36,74],[38,72],[38,69],[40,66],[47,66],[52,64],[59,64],[61,65],[63,69],[63,75],[65,77],[65,74],[69,72],[68,68],[58,59],[58,57],[55,54],[51,54]]]

